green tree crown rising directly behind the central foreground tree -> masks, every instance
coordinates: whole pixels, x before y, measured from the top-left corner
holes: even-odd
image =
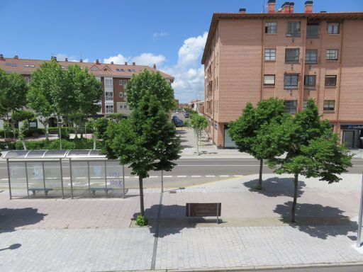
[[[159,72],[149,72],[144,69],[139,74],[134,74],[126,86],[128,94],[128,106],[136,108],[146,91],[157,96],[162,108],[167,113],[176,107],[174,90],[170,83]]]

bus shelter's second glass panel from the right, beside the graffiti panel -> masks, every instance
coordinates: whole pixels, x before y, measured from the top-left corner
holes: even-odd
[[[105,162],[89,162],[91,196],[106,196]]]

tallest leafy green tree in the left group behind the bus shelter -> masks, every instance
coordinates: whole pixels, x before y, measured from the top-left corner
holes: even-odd
[[[64,72],[57,61],[44,62],[32,74],[28,91],[28,107],[40,117],[48,140],[49,118],[57,113],[57,102],[64,91]],[[69,103],[72,98],[69,98]]]

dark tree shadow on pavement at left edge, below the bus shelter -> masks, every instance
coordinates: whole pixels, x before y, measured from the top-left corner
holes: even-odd
[[[42,220],[47,214],[39,213],[38,209],[0,209],[0,233],[13,232],[16,227],[34,225]]]

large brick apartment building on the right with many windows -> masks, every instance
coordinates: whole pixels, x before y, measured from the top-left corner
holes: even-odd
[[[342,142],[362,148],[363,12],[303,13],[285,2],[267,13],[214,13],[203,52],[208,134],[233,147],[228,123],[247,102],[283,98],[287,113],[313,98]]]

